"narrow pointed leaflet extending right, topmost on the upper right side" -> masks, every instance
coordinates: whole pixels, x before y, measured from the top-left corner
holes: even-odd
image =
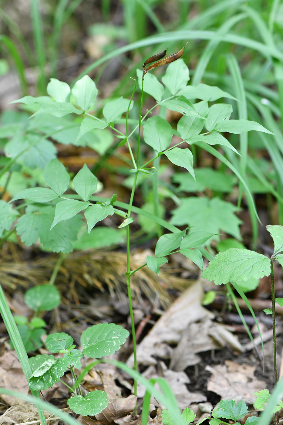
[[[182,87],[179,94],[187,97],[187,99],[202,99],[207,102],[213,102],[221,97],[237,100],[234,96],[221,90],[219,87],[207,84],[187,85]]]

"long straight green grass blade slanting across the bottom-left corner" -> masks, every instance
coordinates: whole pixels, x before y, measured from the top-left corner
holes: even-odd
[[[14,349],[19,358],[20,364],[23,368],[23,373],[25,374],[26,380],[28,381],[32,375],[31,365],[28,361],[28,355],[26,354],[25,347],[23,345],[22,338],[20,337],[19,330],[17,328],[14,317],[9,309],[8,303],[6,301],[2,286],[0,286],[0,313],[5,323],[6,329],[8,331],[9,337],[13,343]],[[39,391],[31,390],[31,394],[40,399]],[[37,411],[41,420],[42,425],[46,425],[46,420],[44,416],[44,411],[42,406],[37,405]]]

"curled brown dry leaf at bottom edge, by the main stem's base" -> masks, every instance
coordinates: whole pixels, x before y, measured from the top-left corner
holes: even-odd
[[[107,407],[95,418],[105,425],[127,425],[135,410],[137,397],[131,394],[127,398],[116,398],[109,401]]]

